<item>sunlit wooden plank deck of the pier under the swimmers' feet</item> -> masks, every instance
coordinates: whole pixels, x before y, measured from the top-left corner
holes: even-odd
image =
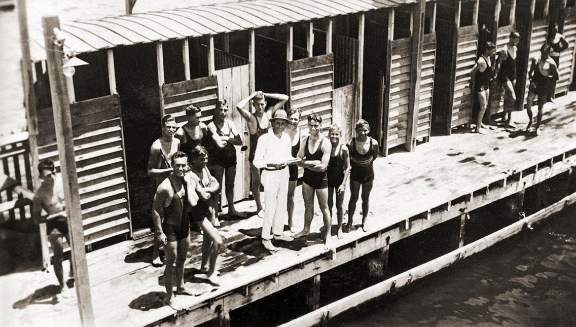
[[[88,253],[96,324],[200,324],[565,172],[576,166],[575,94],[558,98],[557,103],[557,108],[547,104],[541,136],[525,134],[526,115],[517,112],[514,120],[519,124],[514,130],[433,137],[414,153],[378,158],[369,231],[354,230],[340,240],[334,236],[332,251],[323,249],[319,212],[312,237],[278,242],[279,250],[273,254],[260,244],[262,220],[257,216],[226,221],[220,228],[225,238],[219,259],[222,286],[213,287],[194,277],[199,273],[201,238],[192,234],[185,280],[202,294],[179,297],[186,311],[162,305],[164,267],[154,268],[147,262],[150,237]],[[301,228],[304,205],[300,194],[299,187],[295,219]],[[357,212],[355,222],[360,221]],[[334,217],[333,232],[335,222]],[[66,268],[67,263],[65,272]],[[54,284],[52,271],[0,276],[3,324],[79,325],[77,302],[56,299]]]

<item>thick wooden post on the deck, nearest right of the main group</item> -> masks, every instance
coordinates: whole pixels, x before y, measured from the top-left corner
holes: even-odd
[[[410,65],[410,90],[408,91],[408,121],[406,131],[406,150],[416,149],[416,134],[418,132],[418,111],[420,109],[420,71],[422,71],[422,52],[424,51],[424,17],[426,0],[415,3],[412,16],[412,63]]]

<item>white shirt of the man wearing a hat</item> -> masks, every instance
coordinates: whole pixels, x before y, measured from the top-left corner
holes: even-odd
[[[268,164],[276,162],[287,162],[292,158],[290,136],[282,133],[279,138],[274,134],[272,128],[266,134],[260,136],[254,161],[256,168],[266,168]]]

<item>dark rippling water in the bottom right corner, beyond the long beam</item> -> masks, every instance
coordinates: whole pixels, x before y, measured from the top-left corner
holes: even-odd
[[[576,326],[574,207],[330,324]]]

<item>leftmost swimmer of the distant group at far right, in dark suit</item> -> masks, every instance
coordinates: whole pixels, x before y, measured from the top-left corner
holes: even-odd
[[[478,58],[474,67],[470,71],[472,90],[478,96],[480,102],[480,111],[476,117],[476,132],[486,134],[484,128],[486,125],[482,122],[484,113],[490,99],[490,79],[492,79],[492,63],[490,57],[496,52],[496,45],[492,42],[486,42],[486,48],[482,56]]]

